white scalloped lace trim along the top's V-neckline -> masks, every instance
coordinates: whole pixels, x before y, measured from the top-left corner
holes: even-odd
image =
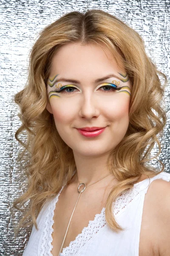
[[[62,186],[62,189],[65,185]],[[62,192],[60,189],[59,193],[51,203],[49,204],[48,210],[46,212],[45,224],[43,227],[42,237],[39,242],[39,256],[52,256],[51,250],[52,246],[52,233],[53,233],[53,224],[54,224],[54,210],[57,207],[56,203],[58,201],[59,195]],[[135,187],[131,190],[124,191],[122,195],[120,195],[116,201],[114,202],[113,212],[114,215],[119,215],[125,211],[127,207],[129,207],[130,202],[135,198],[137,198],[139,192],[136,191]],[[95,237],[99,234],[100,230],[106,228],[106,220],[105,220],[105,207],[102,208],[102,211],[95,215],[93,221],[89,221],[88,226],[82,229],[82,232],[77,235],[74,241],[71,241],[70,244],[62,248],[62,252],[60,256],[74,256],[76,253],[80,253],[84,248],[88,246],[88,244],[95,239]]]

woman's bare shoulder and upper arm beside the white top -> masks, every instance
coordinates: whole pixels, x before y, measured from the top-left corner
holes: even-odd
[[[158,250],[157,255],[169,256],[170,182],[162,179],[153,180],[147,190],[146,197],[149,198],[148,201],[150,202],[151,224],[153,225],[153,232],[155,232],[153,239],[155,241],[155,248]]]

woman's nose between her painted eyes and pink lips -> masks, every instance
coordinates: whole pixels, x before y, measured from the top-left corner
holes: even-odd
[[[79,116],[91,119],[92,117],[99,116],[99,102],[94,99],[94,96],[88,92],[88,94],[82,96],[82,101],[79,105]]]

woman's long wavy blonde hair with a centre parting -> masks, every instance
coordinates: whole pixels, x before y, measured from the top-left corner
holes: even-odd
[[[14,201],[14,207],[21,211],[21,207],[30,201],[18,229],[34,224],[38,230],[36,218],[45,201],[54,198],[65,181],[70,182],[76,169],[73,151],[59,136],[54,117],[46,109],[51,59],[62,45],[71,42],[105,45],[111,56],[121,56],[132,84],[129,126],[107,163],[118,184],[108,196],[105,216],[108,225],[117,232],[124,229],[113,215],[116,198],[131,189],[142,175],[155,176],[164,170],[164,164],[157,156],[161,152],[159,138],[166,122],[160,103],[167,78],[147,56],[141,36],[118,18],[98,9],[67,13],[40,32],[30,52],[26,86],[14,95],[14,102],[20,106],[18,116],[22,122],[15,138],[25,147],[20,159],[26,150],[31,155],[31,158],[28,155],[26,168],[27,190]],[[163,86],[158,75],[164,78]],[[18,138],[23,130],[27,132],[27,143]],[[155,143],[159,152],[153,158],[162,165],[159,172],[146,163],[153,159],[150,151]]]

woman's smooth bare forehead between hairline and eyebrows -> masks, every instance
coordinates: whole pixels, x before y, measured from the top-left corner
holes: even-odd
[[[98,44],[69,43],[60,47],[51,60],[51,75],[99,76],[123,72],[121,56]]]

